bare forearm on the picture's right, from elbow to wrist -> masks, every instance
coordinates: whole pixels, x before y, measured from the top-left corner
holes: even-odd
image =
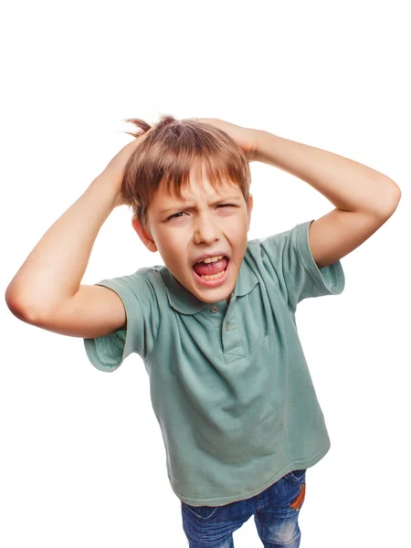
[[[338,209],[385,215],[397,203],[394,181],[363,163],[269,132],[257,134],[256,161],[295,175]]]

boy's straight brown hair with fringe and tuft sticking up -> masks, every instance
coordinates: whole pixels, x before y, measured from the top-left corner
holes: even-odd
[[[171,115],[150,126],[138,118],[125,120],[139,132],[126,132],[140,137],[148,132],[129,158],[121,193],[139,223],[146,227],[147,210],[161,185],[181,199],[181,190],[190,183],[190,172],[199,161],[217,190],[222,178],[238,184],[248,205],[251,184],[248,159],[241,147],[226,132],[215,126],[193,120],[177,121]],[[150,130],[150,132],[149,132]]]

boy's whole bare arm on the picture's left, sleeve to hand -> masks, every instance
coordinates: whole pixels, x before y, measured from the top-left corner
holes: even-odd
[[[20,320],[77,337],[102,336],[125,325],[124,307],[114,291],[80,282],[100,227],[122,203],[122,170],[137,141],[121,149],[48,228],[9,283],[5,300]]]

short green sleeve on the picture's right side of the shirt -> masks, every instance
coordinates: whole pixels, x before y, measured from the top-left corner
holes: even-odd
[[[313,221],[260,240],[265,268],[277,277],[279,290],[293,311],[300,300],[339,295],[345,286],[341,261],[319,269],[312,257],[309,228]]]

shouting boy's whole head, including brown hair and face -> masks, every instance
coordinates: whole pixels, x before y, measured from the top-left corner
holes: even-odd
[[[247,248],[253,205],[246,156],[211,124],[172,116],[153,128],[128,121],[150,130],[127,163],[122,185],[134,229],[197,299],[228,299]],[[203,255],[223,258],[216,268],[212,263],[194,268]],[[202,278],[210,275],[216,278]]]

